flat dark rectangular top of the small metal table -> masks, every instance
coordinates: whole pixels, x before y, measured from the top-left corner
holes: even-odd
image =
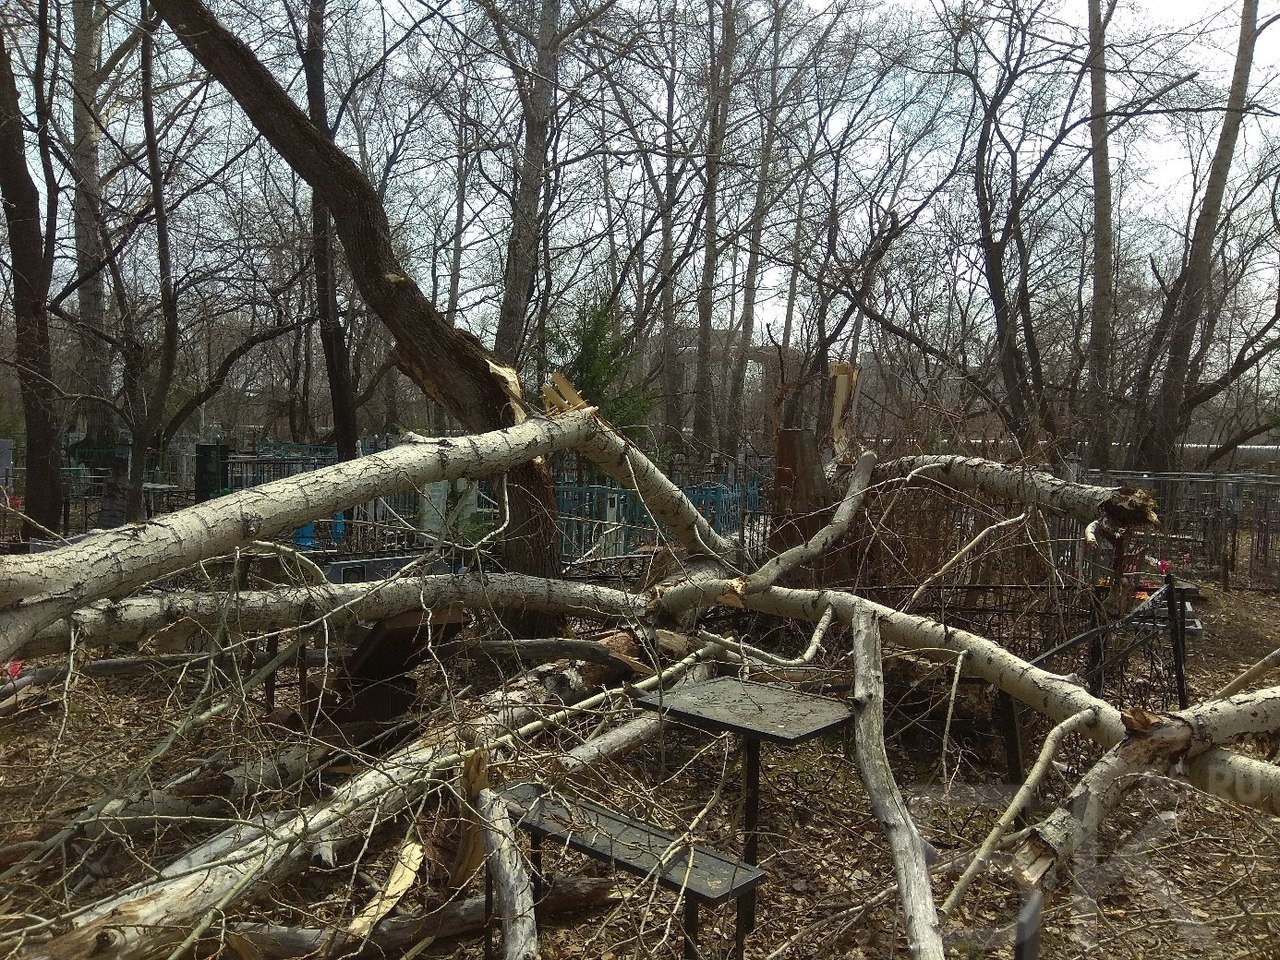
[[[799,744],[854,718],[845,703],[831,696],[737,677],[654,690],[635,703],[701,730],[728,731],[774,744]]]

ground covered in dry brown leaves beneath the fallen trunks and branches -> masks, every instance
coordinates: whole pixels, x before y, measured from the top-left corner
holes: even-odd
[[[1280,598],[1275,594],[1204,586],[1193,616],[1204,626],[1188,660],[1193,701],[1280,646]],[[1260,685],[1266,682],[1280,678],[1271,675]],[[948,677],[940,676],[937,689],[947,686]],[[82,680],[70,700],[52,696],[42,708],[0,719],[0,847],[29,838],[41,824],[63,822],[122,782],[172,730],[168,718],[175,704],[196,692],[196,680],[177,685]],[[938,870],[940,896],[950,890],[968,851],[980,842],[1010,794],[1001,776],[1004,749],[984,716],[984,696],[983,691],[961,691],[947,730],[945,771],[941,714],[922,719],[915,701],[905,695],[891,703],[891,760],[904,794],[940,863],[954,864]],[[72,701],[76,709],[63,709],[63,703]],[[243,739],[243,723],[228,718],[225,724],[214,724],[184,751],[174,751],[151,778],[163,781],[191,758],[211,753],[224,737]],[[1270,758],[1276,745],[1256,742],[1243,749]],[[1064,795],[1089,762],[1084,746],[1078,751],[1051,774],[1046,800]],[[694,824],[700,841],[732,851],[740,832],[740,760],[731,737],[671,727],[660,740],[581,788],[671,828]],[[833,737],[791,750],[765,746],[763,765],[760,854],[768,877],[748,956],[905,957],[891,861],[869,814],[850,745]],[[302,796],[324,788],[311,782],[302,787]],[[49,915],[65,899],[83,902],[118,888],[125,879],[145,876],[146,860],[163,863],[200,836],[198,828],[178,827],[150,847],[125,847],[128,858],[55,872],[45,887],[33,878],[22,887],[0,888],[0,913],[8,915],[0,922],[12,924],[20,914]],[[298,923],[349,922],[385,882],[403,837],[404,824],[388,828],[370,838],[361,869],[343,867],[337,881],[314,870],[247,905],[246,913],[261,910],[279,922],[291,916]],[[1171,780],[1151,781],[1108,822],[1100,846],[1106,858],[1089,874],[1088,887],[1069,884],[1050,897],[1041,956],[1280,957],[1280,819],[1199,795]],[[602,872],[564,851],[548,851],[548,867],[553,873]],[[76,878],[74,890],[68,878]],[[543,956],[680,956],[680,913],[672,896],[626,877],[618,890],[621,900],[604,913],[544,924]],[[470,893],[479,892],[474,883]],[[422,879],[403,909],[419,910],[445,897],[438,884]],[[948,954],[1011,956],[1021,902],[997,856],[945,924]],[[732,906],[704,911],[703,922],[704,956],[728,956]],[[470,960],[480,956],[480,947],[477,940],[454,941],[431,945],[424,955]]]

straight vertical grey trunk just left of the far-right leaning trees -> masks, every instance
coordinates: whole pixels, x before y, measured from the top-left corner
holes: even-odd
[[[1089,379],[1085,385],[1085,466],[1111,466],[1111,317],[1115,312],[1115,233],[1111,229],[1111,145],[1107,133],[1106,24],[1102,0],[1089,0],[1089,140],[1093,146],[1093,302],[1089,307]]]

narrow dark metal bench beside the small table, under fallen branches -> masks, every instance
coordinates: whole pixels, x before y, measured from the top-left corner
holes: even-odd
[[[503,787],[498,794],[513,815],[518,813],[516,826],[531,837],[535,902],[541,899],[541,841],[561,841],[571,850],[682,892],[686,960],[698,956],[699,906],[739,899],[741,910],[741,897],[764,879],[764,872],[756,867],[558,788],[526,781]],[[486,920],[490,905],[492,891],[486,891]],[[742,924],[737,924],[737,956],[742,956],[744,936]],[[485,955],[490,954],[486,938]]]

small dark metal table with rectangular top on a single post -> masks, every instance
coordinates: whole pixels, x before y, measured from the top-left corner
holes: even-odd
[[[699,730],[742,737],[742,859],[753,867],[759,864],[760,741],[801,744],[854,718],[854,712],[833,698],[737,677],[717,677],[669,691],[654,690],[635,703]],[[739,906],[737,924],[741,942],[755,927],[754,890]]]

